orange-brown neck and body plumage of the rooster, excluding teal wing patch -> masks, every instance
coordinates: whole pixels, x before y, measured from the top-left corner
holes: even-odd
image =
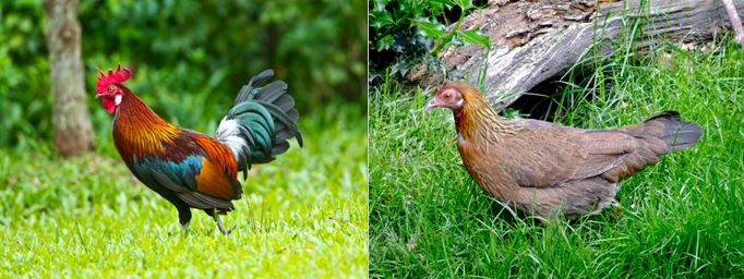
[[[242,187],[230,149],[207,135],[163,120],[129,88],[120,88],[123,95],[113,120],[113,142],[130,170],[147,186],[180,207],[179,210],[187,210],[185,205],[231,210],[233,205],[230,201],[240,198]],[[163,187],[159,184],[170,183],[163,183],[163,179],[143,179],[145,174],[136,169],[145,159],[179,163],[190,156],[200,156],[201,161],[201,169],[193,173],[194,189],[184,185]],[[184,172],[182,175],[192,174]]]

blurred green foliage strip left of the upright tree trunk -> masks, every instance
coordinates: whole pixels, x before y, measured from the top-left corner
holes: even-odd
[[[0,3],[0,146],[51,138],[51,95],[40,1]],[[24,135],[20,137],[19,135]]]

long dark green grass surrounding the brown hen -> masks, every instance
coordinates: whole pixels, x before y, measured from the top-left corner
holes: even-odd
[[[452,112],[422,113],[432,88],[371,88],[370,277],[743,275],[744,51],[662,52],[567,83],[556,121],[611,128],[677,110],[703,126],[700,142],[625,180],[622,216],[571,223],[514,218],[487,197],[461,166]]]

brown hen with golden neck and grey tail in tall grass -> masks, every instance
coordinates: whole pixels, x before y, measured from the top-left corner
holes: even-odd
[[[600,211],[613,204],[617,182],[701,134],[675,111],[612,130],[504,119],[476,88],[458,82],[440,87],[425,111],[436,107],[454,112],[457,149],[481,189],[543,218]]]

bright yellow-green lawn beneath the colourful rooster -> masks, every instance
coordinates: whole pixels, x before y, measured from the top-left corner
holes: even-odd
[[[182,231],[118,157],[0,149],[0,278],[365,277],[365,118],[339,107],[300,119],[304,148],[254,167],[228,236],[196,210]]]

